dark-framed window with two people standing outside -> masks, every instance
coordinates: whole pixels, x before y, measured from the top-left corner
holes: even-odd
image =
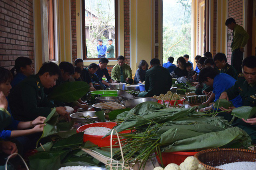
[[[118,54],[117,14],[118,0],[82,0],[84,60],[98,59],[98,57],[116,59]],[[109,39],[112,41],[108,41]],[[98,43],[98,40],[102,40],[102,43]],[[114,46],[114,49],[108,48],[110,45]]]

